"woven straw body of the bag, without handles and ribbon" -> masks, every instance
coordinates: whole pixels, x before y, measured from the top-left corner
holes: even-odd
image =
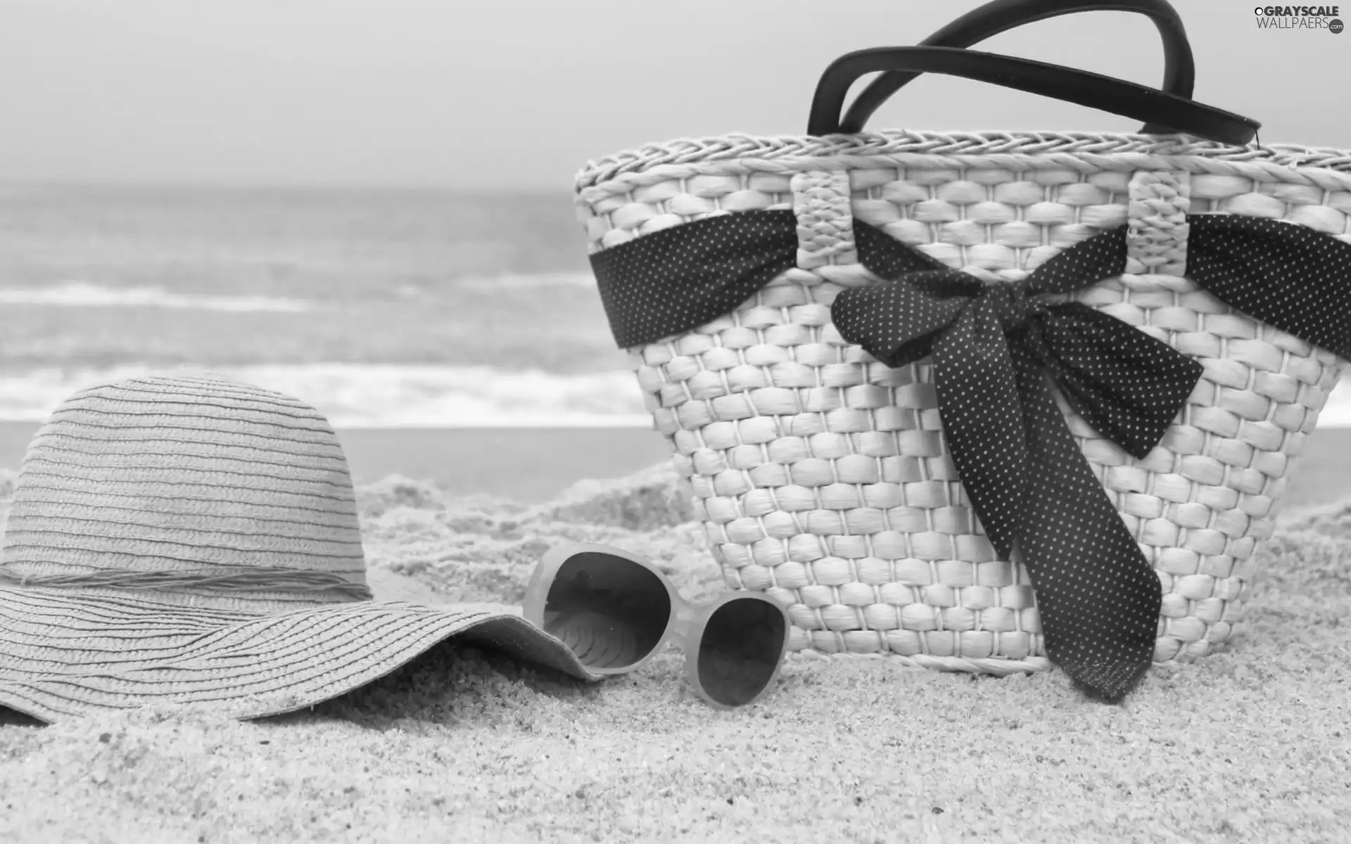
[[[1125,224],[1127,273],[1074,298],[1200,361],[1204,377],[1144,459],[1058,400],[1162,582],[1154,660],[1233,636],[1290,460],[1342,362],[1183,278],[1183,215],[1286,220],[1351,243],[1351,155],[1177,135],[732,135],[590,162],[576,190],[593,255],[716,215],[797,215],[796,267],[720,319],[628,348],[655,428],[727,585],[785,604],[793,651],[989,674],[1050,667],[1031,581],[977,523],[931,362],[888,367],[832,324],[836,294],[878,282],[851,226],[1017,281]]]

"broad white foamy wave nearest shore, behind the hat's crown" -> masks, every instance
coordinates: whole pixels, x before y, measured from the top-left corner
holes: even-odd
[[[68,396],[151,373],[212,371],[301,398],[339,428],[648,427],[630,371],[582,375],[434,365],[274,365],[31,370],[0,375],[0,419],[45,420]]]

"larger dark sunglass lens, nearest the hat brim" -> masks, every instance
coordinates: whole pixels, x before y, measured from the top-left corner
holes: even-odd
[[[601,671],[623,671],[646,659],[670,617],[670,594],[654,571],[594,551],[567,558],[544,600],[544,629],[582,664]]]

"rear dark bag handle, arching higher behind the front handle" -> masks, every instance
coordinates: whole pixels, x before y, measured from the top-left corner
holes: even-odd
[[[1192,99],[1196,85],[1196,62],[1182,18],[1167,0],[1100,0],[1066,3],[1065,0],[993,0],[962,15],[920,42],[923,47],[970,47],[1000,32],[1061,15],[1078,12],[1138,12],[1158,27],[1163,38],[1162,90]],[[882,103],[908,85],[919,73],[888,70],[865,88],[850,105],[839,131],[861,132],[867,119]],[[1147,124],[1144,134],[1162,134],[1166,127]]]

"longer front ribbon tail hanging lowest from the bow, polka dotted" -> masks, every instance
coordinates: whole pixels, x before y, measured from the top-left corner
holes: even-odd
[[[1034,351],[1009,346],[1031,470],[1019,551],[1046,651],[1081,687],[1116,702],[1150,668],[1159,578],[1074,442]]]

